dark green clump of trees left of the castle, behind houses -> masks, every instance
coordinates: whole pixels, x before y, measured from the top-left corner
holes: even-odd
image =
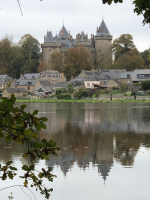
[[[19,78],[21,73],[35,73],[40,62],[40,43],[31,35],[24,35],[15,44],[6,36],[0,41],[0,74]]]

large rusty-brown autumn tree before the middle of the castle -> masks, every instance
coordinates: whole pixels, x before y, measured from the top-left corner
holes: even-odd
[[[64,55],[64,74],[67,80],[77,77],[81,71],[90,70],[89,52],[82,46],[70,48]]]

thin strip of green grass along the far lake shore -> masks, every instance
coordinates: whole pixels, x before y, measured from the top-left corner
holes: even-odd
[[[103,103],[113,103],[113,102],[150,102],[150,100],[112,100],[112,101],[107,101],[107,100],[50,100],[50,99],[30,99],[30,100],[16,100],[17,102],[21,102],[21,103],[59,103],[59,102],[68,102],[68,103],[99,103],[99,102],[103,102]]]

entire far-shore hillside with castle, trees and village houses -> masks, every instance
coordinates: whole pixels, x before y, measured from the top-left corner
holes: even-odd
[[[90,39],[84,32],[74,39],[64,24],[55,37],[47,31],[42,52],[39,42],[29,34],[21,38],[21,46],[11,46],[11,41],[4,38],[1,49],[9,44],[13,52],[9,57],[13,59],[8,61],[9,52],[3,51],[5,64],[0,73],[8,73],[0,75],[1,96],[112,100],[149,94],[143,91],[142,82],[150,80],[150,49],[138,52],[130,34],[121,35],[113,44],[111,41],[103,19]],[[21,59],[18,54],[14,56],[16,48]],[[120,94],[124,97],[114,96]]]

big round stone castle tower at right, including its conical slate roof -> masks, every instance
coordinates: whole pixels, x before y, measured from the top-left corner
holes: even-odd
[[[101,25],[97,27],[97,32],[94,36],[94,41],[97,67],[100,69],[108,68],[112,63],[112,35],[109,33],[109,30],[103,19]]]

